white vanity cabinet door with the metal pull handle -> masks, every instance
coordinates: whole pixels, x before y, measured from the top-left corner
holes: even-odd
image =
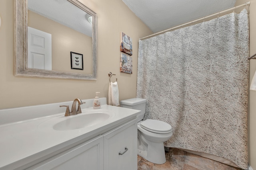
[[[104,170],[137,170],[137,119],[104,134]]]

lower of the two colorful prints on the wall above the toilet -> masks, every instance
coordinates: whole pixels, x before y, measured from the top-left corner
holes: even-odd
[[[132,57],[131,56],[121,53],[120,72],[132,74]]]

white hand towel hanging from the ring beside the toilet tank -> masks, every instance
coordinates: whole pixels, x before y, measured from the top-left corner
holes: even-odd
[[[117,82],[110,83],[108,88],[108,104],[113,106],[119,105],[119,90]]]

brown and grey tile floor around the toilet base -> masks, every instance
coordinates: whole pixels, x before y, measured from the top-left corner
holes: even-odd
[[[165,164],[154,164],[138,156],[138,170],[242,170],[180,149],[166,152]]]

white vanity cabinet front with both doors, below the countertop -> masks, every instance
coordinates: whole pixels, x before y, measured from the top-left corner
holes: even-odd
[[[137,170],[137,119],[28,168],[50,169]]]

